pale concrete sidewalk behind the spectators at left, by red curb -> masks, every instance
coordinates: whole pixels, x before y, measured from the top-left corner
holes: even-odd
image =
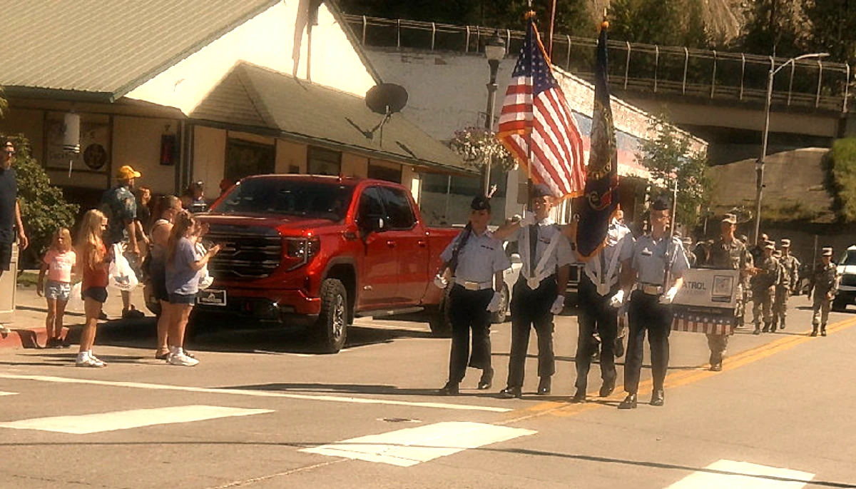
[[[108,319],[120,319],[122,317],[122,296],[116,289],[108,289],[109,296],[104,304],[104,313]],[[138,287],[131,293],[131,303],[134,304],[146,316],[153,316],[146,309],[143,301],[143,288]],[[45,346],[47,334],[45,330],[45,318],[47,317],[47,302],[44,297],[36,294],[35,286],[18,284],[15,292],[15,318],[3,323],[12,332],[9,337],[0,338],[0,349],[34,349]],[[78,326],[83,324],[83,311],[66,311],[64,325]]]

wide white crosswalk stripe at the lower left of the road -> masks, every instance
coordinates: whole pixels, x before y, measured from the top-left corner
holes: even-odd
[[[81,414],[76,416],[52,416],[0,423],[0,427],[16,430],[39,430],[87,434],[127,430],[140,426],[188,423],[191,421],[214,420],[231,416],[272,413],[270,409],[222,408],[219,406],[175,406],[170,408],[131,409],[110,413]]]

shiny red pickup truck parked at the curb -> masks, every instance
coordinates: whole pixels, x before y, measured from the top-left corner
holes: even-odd
[[[458,232],[426,227],[401,185],[339,176],[247,177],[199,218],[221,251],[198,313],[305,325],[327,353],[354,316],[437,311],[431,281]]]

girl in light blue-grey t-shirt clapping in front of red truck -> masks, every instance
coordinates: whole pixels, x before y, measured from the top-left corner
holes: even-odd
[[[220,251],[214,245],[205,254],[196,252],[194,236],[199,226],[193,214],[182,211],[176,216],[169,233],[166,255],[166,289],[169,292],[169,357],[170,365],[193,367],[199,363],[184,351],[184,331],[196,303],[199,279],[208,260]]]

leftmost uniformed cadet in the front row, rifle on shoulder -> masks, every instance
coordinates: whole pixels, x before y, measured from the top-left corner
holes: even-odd
[[[499,310],[502,301],[502,271],[511,264],[502,242],[490,235],[490,200],[481,196],[470,205],[470,222],[440,255],[443,265],[434,278],[444,289],[447,269],[452,276],[449,291],[449,321],[452,323],[452,348],[449,353],[449,381],[441,396],[456,396],[469,367],[482,369],[479,390],[490,389],[490,313]],[[473,355],[470,356],[470,330],[473,330]]]

